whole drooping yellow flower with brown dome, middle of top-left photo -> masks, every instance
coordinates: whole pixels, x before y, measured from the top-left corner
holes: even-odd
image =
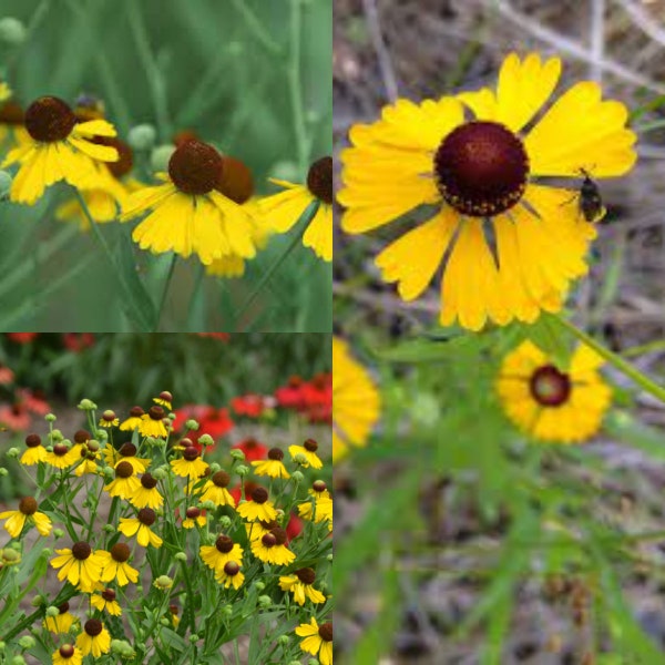
[[[187,141],[171,156],[168,174],[162,174],[164,184],[131,194],[121,221],[153,208],[132,237],[155,254],[173,250],[185,258],[197,254],[205,265],[228,255],[253,258],[255,223],[217,190],[223,172],[224,158],[212,145]]]

